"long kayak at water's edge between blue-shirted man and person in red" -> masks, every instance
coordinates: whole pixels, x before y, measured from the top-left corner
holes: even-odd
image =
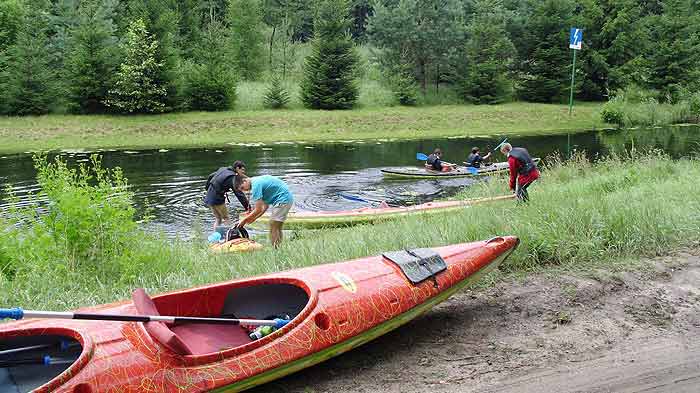
[[[514,196],[511,194],[461,201],[428,202],[420,205],[403,207],[366,207],[341,211],[291,212],[287,216],[287,221],[284,222],[284,227],[286,229],[329,228],[367,224],[408,215],[451,212],[464,209],[468,206],[486,202],[509,200],[513,198]],[[241,214],[240,218],[243,217],[245,217],[245,214]],[[266,225],[268,220],[269,216],[263,215],[262,217],[258,218],[253,225]]]

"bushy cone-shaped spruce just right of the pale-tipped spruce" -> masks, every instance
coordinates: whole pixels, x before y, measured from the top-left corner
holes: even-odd
[[[202,41],[195,51],[197,63],[187,75],[185,96],[190,109],[220,111],[231,109],[236,100],[236,85],[230,71],[228,34],[217,22],[202,32]]]

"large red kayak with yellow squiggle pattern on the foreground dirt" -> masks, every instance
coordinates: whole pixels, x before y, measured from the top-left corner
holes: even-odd
[[[515,237],[403,250],[80,310],[270,319],[239,325],[30,319],[0,325],[0,392],[236,392],[407,323],[494,269]],[[43,360],[42,360],[43,359]]]

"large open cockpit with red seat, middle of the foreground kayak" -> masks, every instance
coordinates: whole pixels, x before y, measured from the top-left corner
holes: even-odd
[[[171,310],[182,311],[189,303],[192,308],[186,316],[245,319],[275,319],[283,316],[294,319],[309,302],[308,293],[292,284],[261,283],[229,286],[224,289],[205,289],[154,299],[143,289],[137,289],[133,293],[133,302],[136,310],[142,315],[175,315]],[[177,313],[177,316],[183,314]],[[147,322],[144,326],[155,341],[183,356],[212,354],[253,342],[249,336],[250,331],[240,325],[166,325],[163,322]]]

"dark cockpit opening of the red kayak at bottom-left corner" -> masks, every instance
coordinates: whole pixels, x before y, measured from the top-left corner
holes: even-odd
[[[82,345],[62,335],[0,338],[0,393],[30,392],[66,371],[79,358]]]

